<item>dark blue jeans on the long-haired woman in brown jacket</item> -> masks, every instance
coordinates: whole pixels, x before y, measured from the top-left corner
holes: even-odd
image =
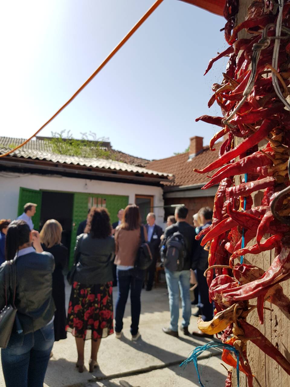
[[[138,325],[141,312],[141,290],[144,281],[144,271],[136,269],[117,269],[118,297],[115,310],[115,331],[121,332],[123,329],[123,317],[129,289],[131,289],[131,335],[138,333]]]

